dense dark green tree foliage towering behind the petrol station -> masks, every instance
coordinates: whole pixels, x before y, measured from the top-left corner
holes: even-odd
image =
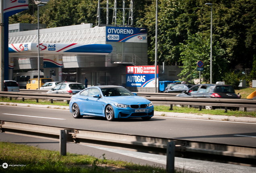
[[[122,0],[117,2],[122,6]],[[125,2],[130,3],[129,0]],[[194,60],[204,57],[207,68],[204,77],[208,78],[209,55],[206,56],[206,50],[209,48],[206,46],[209,46],[207,40],[211,33],[211,8],[205,5],[206,2],[213,4],[213,44],[218,46],[213,51],[215,80],[219,80],[219,72],[238,65],[252,68],[253,55],[256,54],[256,0],[158,0],[157,64],[186,65],[186,57],[192,57],[186,54],[190,51],[190,54],[195,54]],[[101,0],[102,6],[105,3],[105,0]],[[113,6],[111,0],[109,3]],[[47,24],[48,28],[80,23],[95,25],[97,4],[98,0],[50,0],[45,7],[40,7],[40,23]],[[133,11],[134,27],[148,28],[148,62],[153,65],[156,1],[134,1]],[[101,17],[103,21],[106,20],[104,10]],[[37,6],[33,0],[30,0],[29,10],[10,17],[10,24],[18,22],[37,23]],[[204,45],[196,41],[199,38]],[[196,45],[205,47],[204,52],[197,52],[201,48],[195,48]],[[215,52],[217,50],[220,52]],[[193,74],[193,70],[190,73]]]

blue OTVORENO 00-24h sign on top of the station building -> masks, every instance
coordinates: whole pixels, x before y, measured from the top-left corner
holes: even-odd
[[[147,43],[147,28],[106,27],[107,42],[145,42]]]

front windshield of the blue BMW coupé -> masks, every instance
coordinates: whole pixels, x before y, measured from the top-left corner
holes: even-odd
[[[133,94],[125,88],[102,88],[103,96],[132,96]]]

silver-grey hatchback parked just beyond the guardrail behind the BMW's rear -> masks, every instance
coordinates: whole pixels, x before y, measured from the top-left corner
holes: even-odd
[[[85,86],[81,83],[76,82],[62,82],[57,84],[56,87],[47,91],[47,93],[51,94],[76,94],[81,90],[85,89]]]

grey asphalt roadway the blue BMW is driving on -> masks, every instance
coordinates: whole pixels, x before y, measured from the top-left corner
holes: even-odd
[[[0,110],[2,121],[256,147],[256,123],[173,117],[109,122],[103,117],[74,119],[68,110],[60,109],[0,105]]]

